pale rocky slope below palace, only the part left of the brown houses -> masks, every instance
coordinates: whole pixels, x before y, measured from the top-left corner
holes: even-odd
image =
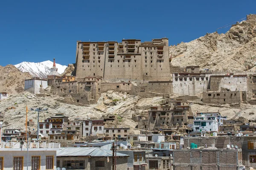
[[[54,96],[38,97],[29,92],[23,92],[0,100],[0,118],[3,120],[3,129],[24,129],[27,105],[29,108],[28,119],[35,122],[35,125],[30,129],[36,129],[37,126],[37,112],[31,111],[31,108],[41,107],[44,110],[40,112],[42,121],[55,113],[64,113],[65,116],[70,117],[70,120],[100,119],[102,116],[117,114],[119,115],[119,124],[133,130],[137,123],[131,120],[132,115],[146,114],[150,105],[160,105],[163,100],[162,97],[140,98],[113,91],[103,93],[98,103],[90,106],[69,105],[59,102],[61,99],[61,97]],[[134,133],[140,132],[134,131]]]

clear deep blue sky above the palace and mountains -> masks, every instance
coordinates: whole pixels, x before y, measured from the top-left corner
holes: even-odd
[[[2,0],[0,65],[53,57],[74,63],[76,40],[189,42],[256,13],[255,7],[256,0]]]

